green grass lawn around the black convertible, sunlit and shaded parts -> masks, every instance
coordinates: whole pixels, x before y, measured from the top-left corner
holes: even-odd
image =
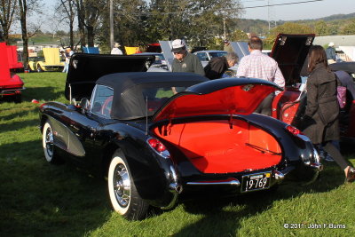
[[[111,209],[105,180],[44,159],[37,128],[39,104],[31,100],[67,102],[66,74],[20,76],[27,87],[23,102],[0,102],[0,236],[355,234],[355,184],[343,185],[343,171],[334,163],[325,163],[321,177],[311,186],[280,186],[276,192],[223,199],[206,197],[170,210],[152,209],[143,221],[127,221]],[[353,148],[347,150],[345,156],[355,163]],[[335,225],[338,228],[331,228]]]

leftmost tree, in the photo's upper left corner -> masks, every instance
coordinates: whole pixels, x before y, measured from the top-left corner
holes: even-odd
[[[13,0],[2,0],[0,5],[0,25],[2,28],[3,40],[9,43],[9,32],[12,20],[17,10],[17,2]]]

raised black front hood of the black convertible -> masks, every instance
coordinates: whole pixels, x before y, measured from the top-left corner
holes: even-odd
[[[122,72],[145,72],[146,62],[154,57],[75,53],[70,59],[66,98],[79,101],[91,98],[96,81],[103,75]]]

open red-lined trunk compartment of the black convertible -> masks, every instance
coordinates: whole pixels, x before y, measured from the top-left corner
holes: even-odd
[[[203,173],[264,169],[282,157],[272,135],[239,119],[170,123],[154,128],[154,134],[177,146]]]

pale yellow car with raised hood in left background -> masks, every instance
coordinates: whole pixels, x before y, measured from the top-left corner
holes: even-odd
[[[61,72],[64,61],[60,60],[59,48],[43,48],[43,57],[31,57],[28,60],[28,68],[37,72]]]

